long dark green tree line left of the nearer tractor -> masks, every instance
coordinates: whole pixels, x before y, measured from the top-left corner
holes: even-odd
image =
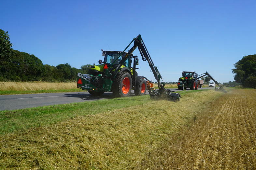
[[[68,63],[51,66],[35,55],[13,50],[8,32],[0,29],[0,81],[76,81],[78,72],[86,74],[90,64],[80,69]]]

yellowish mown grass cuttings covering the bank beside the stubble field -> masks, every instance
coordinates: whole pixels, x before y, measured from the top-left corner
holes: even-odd
[[[214,90],[187,93],[180,102],[141,96],[134,103],[148,102],[125,108],[121,103],[132,97],[119,98],[109,107],[120,107],[108,111],[86,115],[84,108],[79,111],[84,116],[3,134],[0,169],[132,169],[221,95]]]

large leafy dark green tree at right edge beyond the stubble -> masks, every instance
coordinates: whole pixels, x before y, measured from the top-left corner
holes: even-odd
[[[234,64],[232,69],[234,79],[237,83],[242,83],[245,87],[254,86],[249,79],[256,76],[256,54],[244,56],[241,60]],[[254,87],[253,87],[254,88]]]

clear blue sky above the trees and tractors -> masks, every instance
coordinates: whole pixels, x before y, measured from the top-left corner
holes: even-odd
[[[122,51],[141,34],[165,82],[178,81],[183,70],[207,71],[222,83],[234,80],[235,62],[256,53],[255,0],[10,0],[0,6],[0,29],[13,49],[43,64],[97,64],[101,49]],[[139,59],[139,75],[154,79]]]

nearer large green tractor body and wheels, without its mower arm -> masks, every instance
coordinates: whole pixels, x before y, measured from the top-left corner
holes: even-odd
[[[88,74],[78,73],[78,88],[88,90],[93,96],[101,96],[106,91],[112,91],[114,96],[126,97],[130,95],[132,89],[135,90],[135,95],[145,95],[147,81],[144,76],[138,76],[136,72],[137,56],[130,54],[121,64],[115,77],[107,76],[114,73],[117,65],[126,55],[127,52],[102,50],[104,61],[99,60],[98,65],[91,66]]]

